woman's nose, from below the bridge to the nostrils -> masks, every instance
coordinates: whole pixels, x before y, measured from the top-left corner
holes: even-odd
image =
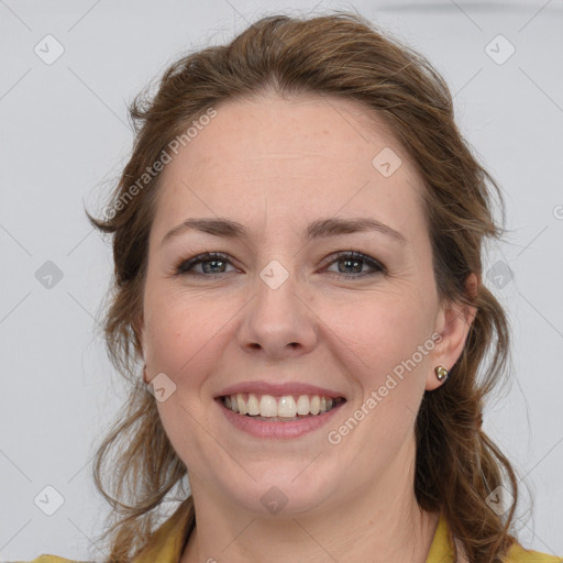
[[[314,349],[318,317],[306,302],[311,299],[297,285],[292,275],[277,288],[257,278],[255,296],[244,309],[239,330],[242,350],[264,360],[280,360]]]

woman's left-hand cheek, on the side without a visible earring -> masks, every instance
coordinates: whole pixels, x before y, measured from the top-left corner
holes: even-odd
[[[232,316],[221,300],[147,285],[144,333],[147,373],[151,377],[165,373],[175,384],[169,398],[156,406],[170,443],[191,468],[205,468],[206,463],[212,465],[211,460],[192,459],[189,452],[205,456],[205,452],[212,450],[208,434],[200,431],[208,426],[207,409],[211,400],[206,379],[220,354],[221,328]]]

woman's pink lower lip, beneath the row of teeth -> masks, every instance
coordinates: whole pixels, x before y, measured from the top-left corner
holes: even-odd
[[[247,432],[255,438],[299,438],[321,428],[336,413],[346,401],[339,402],[335,407],[322,415],[311,415],[301,420],[291,420],[284,422],[282,420],[268,422],[266,420],[256,420],[245,415],[239,415],[228,409],[221,398],[216,399],[223,411],[225,418],[239,430]]]

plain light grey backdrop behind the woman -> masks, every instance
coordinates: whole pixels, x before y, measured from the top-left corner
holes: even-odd
[[[262,15],[333,9],[430,58],[503,187],[509,232],[485,280],[510,314],[515,373],[484,427],[518,471],[520,541],[563,554],[561,0],[0,0],[0,560],[100,556],[91,459],[123,394],[98,327],[110,246],[84,206],[130,153],[126,104],[181,53]]]

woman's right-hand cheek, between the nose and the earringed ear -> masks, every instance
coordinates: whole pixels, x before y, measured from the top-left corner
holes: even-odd
[[[399,444],[413,423],[424,390],[433,347],[431,299],[424,302],[418,290],[401,290],[374,295],[361,305],[347,307],[349,313],[335,309],[327,321],[338,327],[334,332],[352,352],[346,353],[345,368],[357,386],[354,409],[369,412],[353,440],[364,439],[367,432],[378,437],[378,444]]]

